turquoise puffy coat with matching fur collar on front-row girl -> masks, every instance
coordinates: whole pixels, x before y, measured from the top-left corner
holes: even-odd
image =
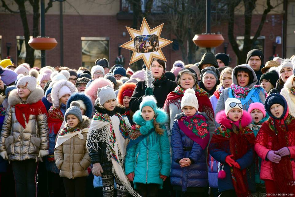
[[[130,147],[125,158],[125,174],[134,172],[135,189],[136,183],[156,183],[162,188],[163,180],[160,178],[160,173],[165,176],[170,174],[170,146],[164,126],[168,117],[162,109],[157,109],[156,115],[156,122],[164,129],[163,135],[151,132],[139,143]],[[154,129],[152,120],[145,121],[140,111],[135,112],[133,121],[140,126],[142,135],[147,135],[151,129]]]

